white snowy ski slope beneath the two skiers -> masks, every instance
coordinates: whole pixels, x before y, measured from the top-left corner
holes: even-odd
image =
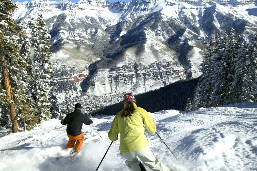
[[[121,106],[122,108],[122,106]],[[257,103],[241,103],[191,112],[175,110],[150,113],[157,133],[169,146],[175,159],[156,134],[146,130],[155,157],[173,171],[257,170]],[[30,131],[8,134],[0,128],[0,170],[68,171],[96,170],[111,141],[108,131],[114,116],[93,117],[93,125],[83,125],[82,150],[67,154],[65,126],[57,119],[42,122]],[[98,139],[98,141],[96,141]],[[149,168],[147,168],[150,170]],[[120,156],[119,139],[104,158],[102,171],[128,171]]]

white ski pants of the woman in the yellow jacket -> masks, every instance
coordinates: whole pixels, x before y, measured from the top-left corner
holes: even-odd
[[[149,146],[132,152],[121,152],[120,154],[127,159],[128,165],[131,166],[134,171],[141,171],[137,157],[153,171],[170,171],[160,159],[153,156]]]

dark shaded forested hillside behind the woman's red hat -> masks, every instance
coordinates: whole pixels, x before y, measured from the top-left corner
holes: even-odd
[[[193,99],[198,78],[177,81],[160,89],[135,95],[138,107],[148,112],[175,109],[184,111],[188,98]],[[106,106],[92,112],[92,116],[116,115],[123,109],[123,102]]]

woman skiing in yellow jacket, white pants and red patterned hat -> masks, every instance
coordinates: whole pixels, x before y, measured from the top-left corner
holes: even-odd
[[[146,166],[154,171],[170,171],[158,158],[154,157],[149,141],[144,135],[144,126],[149,133],[156,132],[153,119],[143,108],[137,107],[135,97],[131,93],[123,96],[124,109],[122,109],[113,119],[108,137],[111,141],[117,141],[120,133],[120,154],[127,159],[126,163],[135,171],[145,171],[146,169],[137,157]]]

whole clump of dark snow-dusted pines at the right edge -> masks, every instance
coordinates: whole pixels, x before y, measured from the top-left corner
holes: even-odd
[[[201,64],[199,107],[215,107],[257,100],[257,36],[242,42],[235,30],[210,39]],[[211,64],[211,65],[210,65]],[[211,74],[212,73],[212,74]]]

